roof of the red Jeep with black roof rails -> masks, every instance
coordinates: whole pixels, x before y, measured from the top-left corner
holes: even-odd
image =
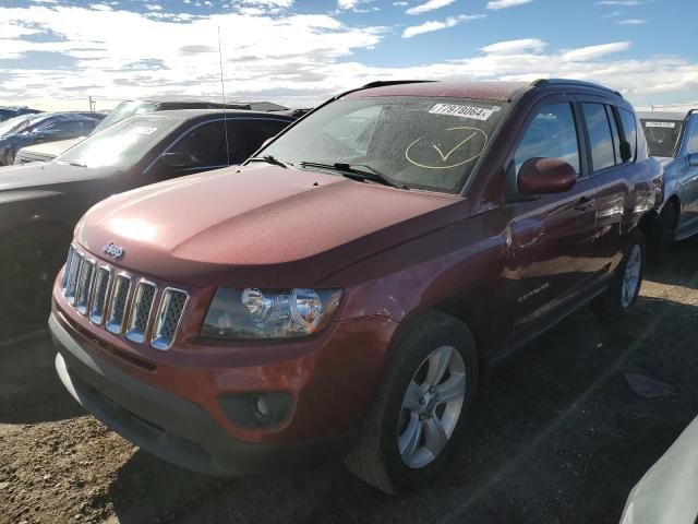
[[[363,88],[347,94],[348,98],[369,96],[433,96],[454,98],[476,98],[488,100],[512,100],[519,92],[532,88],[585,88],[599,90],[623,96],[621,93],[600,84],[567,79],[541,79],[533,82],[503,82],[503,81],[405,81],[405,82],[374,82]]]

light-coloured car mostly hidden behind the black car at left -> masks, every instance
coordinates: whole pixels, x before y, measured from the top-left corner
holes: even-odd
[[[251,102],[251,103],[238,103],[230,102],[221,104],[220,100],[201,97],[180,97],[180,96],[164,96],[153,97],[142,100],[124,100],[115,107],[107,118],[105,118],[93,130],[91,134],[98,133],[103,129],[107,129],[124,118],[132,117],[133,115],[142,115],[144,112],[153,111],[168,111],[171,109],[222,109],[224,106],[227,109],[249,109],[253,111],[284,111],[286,107],[273,104],[270,102]],[[299,118],[301,115],[289,115],[293,118]],[[28,162],[49,162],[61,155],[73,145],[83,140],[84,136],[71,140],[55,141],[45,144],[31,145],[20,150],[16,154],[15,164],[26,164]]]

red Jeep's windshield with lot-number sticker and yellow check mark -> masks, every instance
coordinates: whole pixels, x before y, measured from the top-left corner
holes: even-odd
[[[457,193],[505,105],[412,96],[340,99],[289,129],[260,155],[300,168],[301,163],[362,166],[398,187]]]

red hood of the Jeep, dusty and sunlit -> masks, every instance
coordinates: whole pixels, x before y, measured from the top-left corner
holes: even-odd
[[[190,285],[298,287],[464,217],[455,195],[281,167],[220,169],[115,195],[76,239],[119,265]]]

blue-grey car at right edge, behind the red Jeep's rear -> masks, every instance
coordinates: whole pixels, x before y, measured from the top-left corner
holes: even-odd
[[[698,110],[638,112],[649,153],[664,168],[664,203],[654,258],[666,257],[666,247],[698,234]]]

